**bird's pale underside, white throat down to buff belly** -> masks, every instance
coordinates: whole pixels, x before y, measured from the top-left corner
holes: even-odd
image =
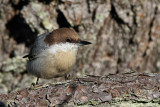
[[[78,45],[60,43],[44,50],[37,59],[28,62],[28,71],[41,78],[64,75],[74,65]]]

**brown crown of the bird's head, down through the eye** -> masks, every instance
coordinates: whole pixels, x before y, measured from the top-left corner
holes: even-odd
[[[73,29],[60,28],[53,30],[51,33],[49,33],[44,39],[44,42],[48,45],[65,42],[78,43],[80,42],[80,38]]]

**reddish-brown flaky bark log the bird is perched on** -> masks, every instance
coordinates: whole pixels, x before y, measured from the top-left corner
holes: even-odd
[[[160,75],[123,73],[106,77],[87,76],[68,83],[22,89],[0,95],[1,105],[9,107],[40,106],[136,106],[158,107]]]

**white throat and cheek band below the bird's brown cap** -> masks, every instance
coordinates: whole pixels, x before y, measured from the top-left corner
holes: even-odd
[[[78,47],[79,46],[76,43],[66,42],[66,43],[54,44],[54,45],[50,46],[47,50],[51,54],[55,54],[58,51],[64,51],[64,52],[73,51],[73,52],[77,52]]]

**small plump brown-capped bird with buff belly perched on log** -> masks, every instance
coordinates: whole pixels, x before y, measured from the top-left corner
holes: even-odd
[[[31,47],[27,71],[39,78],[52,79],[63,77],[70,72],[76,63],[77,51],[80,46],[91,42],[80,39],[72,28],[59,28],[38,36]]]

